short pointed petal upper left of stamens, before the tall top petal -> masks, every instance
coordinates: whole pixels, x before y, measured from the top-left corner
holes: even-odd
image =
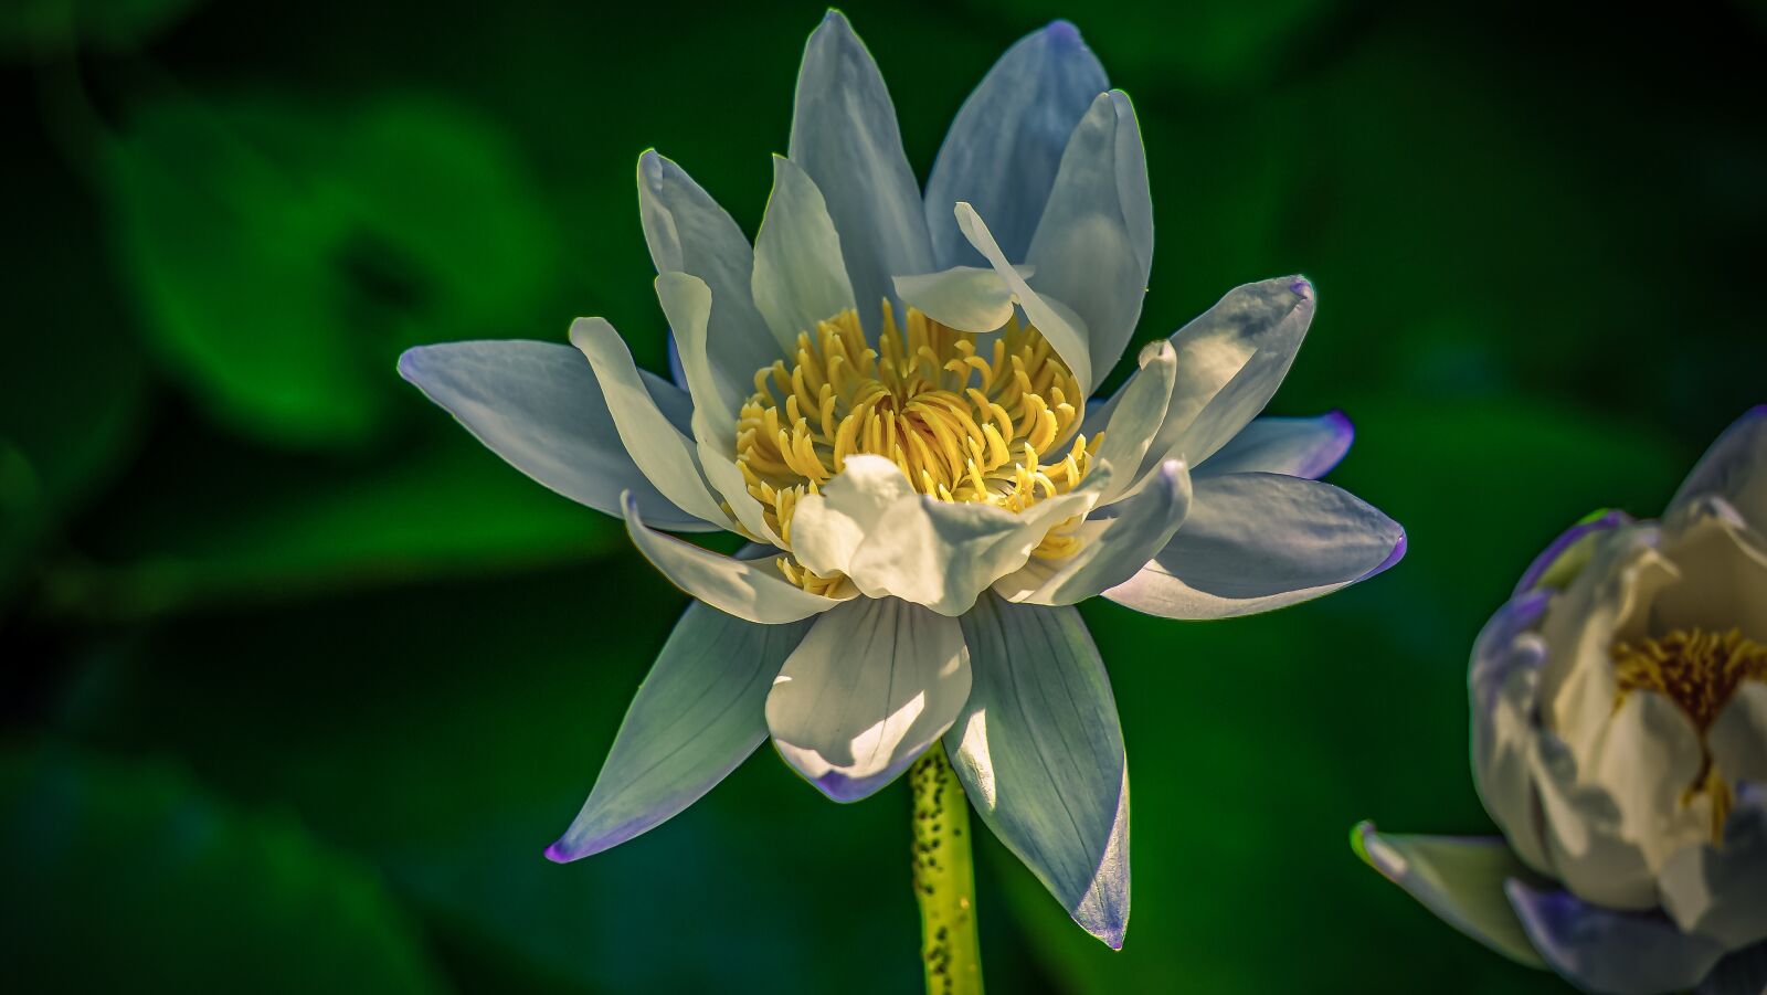
[[[774,156],[774,191],[755,237],[753,288],[755,306],[781,355],[797,352],[799,332],[813,332],[816,322],[853,308],[841,251],[815,180],[790,159]]]

